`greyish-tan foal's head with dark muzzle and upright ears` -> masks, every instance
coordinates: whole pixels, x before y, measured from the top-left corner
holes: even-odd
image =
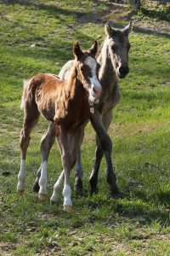
[[[112,65],[116,71],[118,78],[123,79],[129,72],[128,68],[128,51],[130,43],[128,34],[132,30],[132,22],[122,30],[111,27],[110,23],[105,24],[105,33],[107,35],[106,44],[108,46],[109,55],[111,56]]]

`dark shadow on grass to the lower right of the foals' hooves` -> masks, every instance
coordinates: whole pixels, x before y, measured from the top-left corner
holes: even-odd
[[[168,193],[168,197],[169,195]],[[91,212],[94,212],[94,214],[92,214],[94,216],[94,223],[101,220],[108,225],[114,225],[117,220],[125,222],[127,219],[133,221],[133,223],[139,222],[140,226],[148,225],[156,221],[161,227],[168,227],[170,225],[169,208],[165,207],[162,210],[160,207],[154,208],[152,203],[153,202],[147,203],[144,199],[140,201],[139,199],[123,201],[100,201],[98,199],[88,201],[88,208]],[[105,209],[108,207],[108,214],[106,217],[100,218],[99,212],[103,212],[104,207]]]

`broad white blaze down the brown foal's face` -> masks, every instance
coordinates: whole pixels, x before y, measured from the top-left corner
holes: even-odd
[[[88,78],[90,80],[89,98],[99,97],[101,93],[101,84],[96,76],[97,62],[89,56],[84,63],[90,67],[92,73],[92,77]]]

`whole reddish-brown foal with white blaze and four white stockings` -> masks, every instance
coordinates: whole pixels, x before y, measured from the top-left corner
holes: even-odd
[[[54,129],[63,165],[63,172],[54,184],[51,201],[58,201],[64,183],[64,209],[65,211],[71,209],[70,172],[77,161],[77,151],[82,143],[82,133],[88,123],[89,102],[93,103],[101,94],[101,85],[98,79],[99,65],[95,60],[97,50],[96,41],[86,52],[82,52],[77,42],[73,48],[75,60],[71,75],[65,81],[49,73],[39,73],[26,80],[21,104],[21,107],[24,108],[24,124],[20,133],[21,162],[17,185],[20,195],[25,190],[26,151],[30,142],[30,134],[32,128],[37,125],[39,114],[42,113],[45,119],[54,123],[51,125],[53,127],[49,126],[48,129]],[[44,147],[46,145],[42,140],[41,148]],[[40,200],[44,200],[47,195],[48,151],[41,150],[41,152],[42,172],[39,178],[38,197]]]

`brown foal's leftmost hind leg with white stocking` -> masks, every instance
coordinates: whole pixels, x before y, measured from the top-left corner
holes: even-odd
[[[25,109],[25,119],[23,129],[20,132],[20,149],[21,149],[21,161],[20,161],[20,172],[18,174],[18,184],[17,184],[17,192],[19,195],[22,195],[25,190],[25,182],[26,182],[26,151],[28,145],[30,143],[30,134],[32,128],[37,125],[39,112],[36,106],[35,108],[31,108],[31,113],[27,112]],[[29,108],[26,103],[26,108]],[[28,109],[29,110],[29,109]]]

